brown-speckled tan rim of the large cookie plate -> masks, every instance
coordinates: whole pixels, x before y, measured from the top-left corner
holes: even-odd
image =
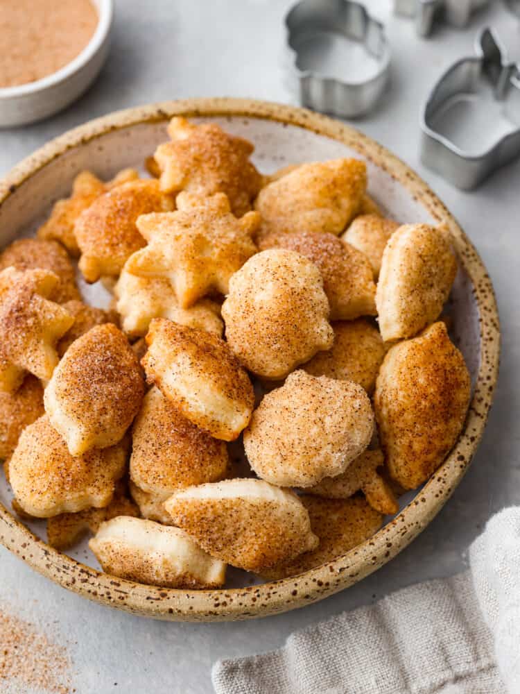
[[[55,158],[112,130],[186,117],[260,118],[291,124],[343,142],[385,169],[439,223],[446,223],[459,262],[473,285],[480,323],[480,366],[465,428],[437,472],[415,498],[367,541],[333,561],[295,577],[239,589],[189,591],[119,579],[51,548],[0,504],[0,542],[42,575],[101,604],[166,620],[216,621],[268,616],[302,607],[347,588],[395,557],[440,511],[464,476],[482,437],[498,377],[499,314],[492,282],[474,246],[444,204],[404,162],[358,130],[289,105],[234,98],[166,101],[114,112],[53,139],[0,182],[0,208],[17,187]]]

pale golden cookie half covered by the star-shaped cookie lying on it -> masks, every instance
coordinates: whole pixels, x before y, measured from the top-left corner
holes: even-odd
[[[125,266],[114,294],[123,330],[129,335],[146,335],[153,318],[167,318],[222,337],[224,323],[220,319],[220,305],[210,299],[200,299],[189,308],[181,308],[173,287],[165,278],[137,277]]]

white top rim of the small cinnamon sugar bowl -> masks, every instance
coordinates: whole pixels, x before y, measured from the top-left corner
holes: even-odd
[[[21,96],[29,96],[37,92],[44,92],[55,85],[63,83],[73,74],[85,67],[96,53],[103,46],[114,19],[114,0],[90,0],[94,5],[96,14],[98,15],[98,23],[85,48],[78,53],[76,58],[73,58],[66,65],[60,67],[59,70],[51,72],[34,82],[27,82],[23,85],[15,85],[13,87],[0,87],[1,99],[17,99]]]

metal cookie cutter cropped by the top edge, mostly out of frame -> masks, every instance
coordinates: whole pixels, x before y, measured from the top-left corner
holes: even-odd
[[[428,36],[435,19],[442,16],[448,24],[463,28],[469,24],[471,14],[487,5],[489,0],[394,0],[397,15],[415,17],[419,36]]]

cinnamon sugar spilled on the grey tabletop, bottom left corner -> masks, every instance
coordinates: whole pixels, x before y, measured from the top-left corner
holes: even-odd
[[[15,694],[35,690],[45,694],[72,694],[71,661],[42,627],[0,608],[0,691]]]

